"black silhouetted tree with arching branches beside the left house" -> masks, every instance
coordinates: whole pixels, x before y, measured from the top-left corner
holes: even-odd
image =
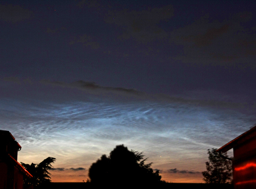
[[[24,188],[33,185],[35,189],[43,187],[46,183],[51,182],[50,180],[50,170],[52,168],[52,163],[56,161],[56,158],[48,157],[39,164],[31,163],[31,165],[22,163],[20,164],[32,174],[33,178],[25,178]]]

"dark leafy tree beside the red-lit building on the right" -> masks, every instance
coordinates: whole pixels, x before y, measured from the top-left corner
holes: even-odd
[[[230,183],[232,177],[232,162],[228,159],[222,158],[217,148],[208,149],[208,159],[206,164],[206,171],[203,171],[203,180],[206,183]],[[223,156],[228,157],[225,152]]]

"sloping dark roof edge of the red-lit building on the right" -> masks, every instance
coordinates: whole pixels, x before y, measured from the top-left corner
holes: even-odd
[[[244,132],[243,134],[239,135],[238,137],[236,137],[235,139],[233,139],[232,141],[230,141],[229,143],[222,146],[216,151],[224,153],[230,150],[231,148],[234,148],[235,146],[240,145],[253,137],[256,137],[256,125],[250,130],[248,130],[247,132]]]

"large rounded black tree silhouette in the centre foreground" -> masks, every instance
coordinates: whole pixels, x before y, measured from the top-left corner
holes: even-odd
[[[109,157],[102,155],[89,169],[91,183],[110,185],[156,184],[161,182],[159,170],[145,164],[143,152],[116,146]]]

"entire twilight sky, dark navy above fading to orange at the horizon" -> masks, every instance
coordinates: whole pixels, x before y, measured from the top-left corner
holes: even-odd
[[[169,182],[256,124],[256,2],[0,0],[0,130],[82,182],[116,145]],[[229,152],[232,156],[232,151]]]

